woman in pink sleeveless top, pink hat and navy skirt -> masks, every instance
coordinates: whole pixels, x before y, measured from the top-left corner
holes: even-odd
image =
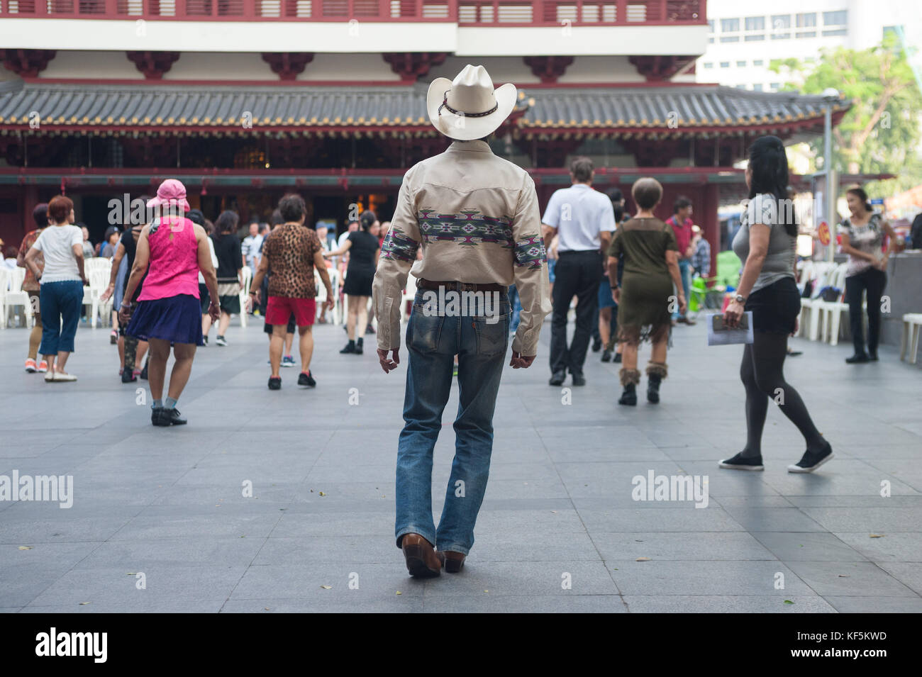
[[[201,271],[213,299],[208,314],[214,320],[220,314],[215,302],[218,277],[211,263],[205,229],[179,216],[189,211],[181,181],[163,181],[157,197],[148,202],[148,209],[156,210],[155,214],[160,216],[141,231],[137,240],[135,265],[124,298],[132,298],[142,278],[144,286],[137,298],[137,308],[133,311],[130,304],[123,302],[119,318],[128,325],[125,333],[150,344],[148,383],[154,399],[150,422],[154,426],[179,426],[186,421],[176,410],[176,402],[192,372],[195,346],[204,345],[198,273]],[[176,362],[170,374],[170,391],[163,400],[171,345]]]

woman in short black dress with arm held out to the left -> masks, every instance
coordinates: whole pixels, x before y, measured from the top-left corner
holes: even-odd
[[[361,355],[363,352],[362,337],[356,340],[356,327],[364,331],[368,324],[368,299],[372,296],[372,280],[374,271],[378,268],[378,254],[381,246],[378,239],[372,235],[372,226],[377,223],[378,217],[374,212],[362,212],[359,217],[361,228],[349,233],[349,239],[337,251],[325,251],[324,258],[342,256],[349,251],[349,267],[346,269],[346,283],[343,293],[349,298],[349,317],[346,322],[349,333],[349,343],[340,350],[340,353],[354,353]]]

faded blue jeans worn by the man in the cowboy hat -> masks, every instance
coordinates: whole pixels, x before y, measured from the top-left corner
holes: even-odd
[[[406,425],[397,443],[396,543],[400,547],[404,534],[419,533],[439,550],[467,554],[474,544],[474,523],[490,476],[493,411],[509,347],[509,298],[499,293],[499,309],[491,308],[492,317],[444,317],[424,310],[424,295],[429,293],[417,291],[407,326]],[[438,302],[432,307],[443,311]],[[436,530],[432,452],[452,390],[455,355],[460,397],[455,461]]]

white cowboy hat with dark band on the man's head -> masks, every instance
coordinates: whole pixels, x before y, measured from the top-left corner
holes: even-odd
[[[445,136],[458,141],[483,138],[499,127],[515,107],[512,83],[494,89],[487,69],[467,64],[454,80],[436,77],[426,95],[429,119]]]

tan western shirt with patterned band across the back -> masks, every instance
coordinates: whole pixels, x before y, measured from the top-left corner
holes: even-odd
[[[410,273],[434,282],[514,284],[522,314],[513,350],[536,355],[551,305],[538,194],[528,172],[483,141],[455,141],[408,170],[374,275],[384,350],[400,346],[400,300]]]

